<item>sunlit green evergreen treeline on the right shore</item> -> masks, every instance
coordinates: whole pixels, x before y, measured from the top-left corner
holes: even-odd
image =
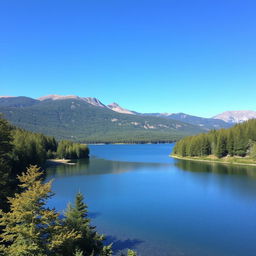
[[[185,137],[176,143],[173,154],[182,157],[215,155],[218,158],[256,158],[256,120],[252,119],[229,129]]]

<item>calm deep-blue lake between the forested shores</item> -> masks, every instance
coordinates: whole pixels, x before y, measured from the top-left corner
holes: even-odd
[[[172,146],[90,146],[89,161],[48,169],[50,206],[81,191],[115,251],[255,256],[256,168],[174,160]]]

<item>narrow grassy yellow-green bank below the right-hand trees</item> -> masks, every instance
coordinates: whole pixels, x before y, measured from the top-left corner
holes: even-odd
[[[228,158],[200,158],[200,157],[182,157],[177,155],[170,155],[175,159],[186,160],[186,161],[197,161],[197,162],[208,162],[208,163],[218,163],[218,164],[228,164],[228,165],[247,165],[256,166],[256,161],[252,159],[239,158],[239,157],[228,157]],[[248,162],[246,162],[248,161]]]

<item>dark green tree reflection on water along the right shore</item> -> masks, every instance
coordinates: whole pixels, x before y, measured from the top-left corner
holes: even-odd
[[[256,178],[256,167],[245,165],[231,165],[221,163],[208,163],[199,161],[178,160],[178,168],[191,172],[212,172],[219,174],[246,175]]]

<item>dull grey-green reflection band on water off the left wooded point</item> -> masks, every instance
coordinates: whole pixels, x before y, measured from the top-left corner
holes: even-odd
[[[73,175],[99,175],[122,173],[131,170],[139,170],[141,168],[154,168],[165,166],[161,163],[135,163],[110,161],[105,159],[84,159],[75,161],[75,165],[60,164],[47,168],[48,178],[73,176]]]

